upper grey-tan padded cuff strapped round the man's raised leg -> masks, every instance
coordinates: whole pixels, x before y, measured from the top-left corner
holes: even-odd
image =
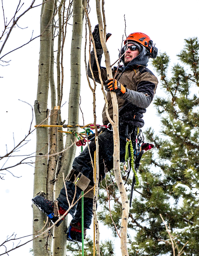
[[[90,183],[89,178],[87,178],[84,174],[74,169],[72,169],[68,173],[66,180],[74,183],[77,187],[81,188],[83,191],[88,187],[88,184]]]

